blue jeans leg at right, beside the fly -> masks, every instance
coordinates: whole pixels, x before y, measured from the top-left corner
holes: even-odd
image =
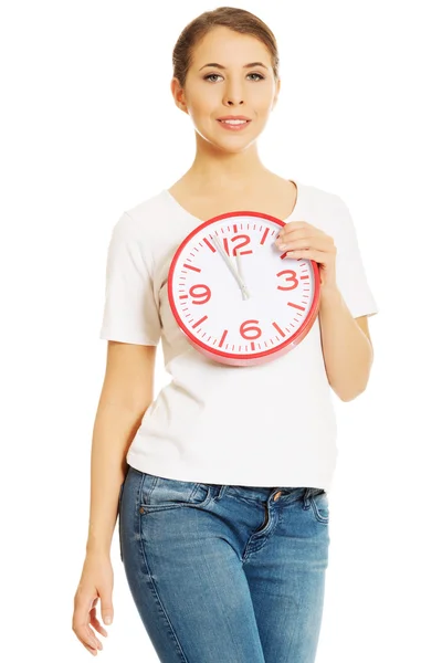
[[[328,566],[328,496],[275,490],[251,534],[243,569],[266,663],[314,663]]]

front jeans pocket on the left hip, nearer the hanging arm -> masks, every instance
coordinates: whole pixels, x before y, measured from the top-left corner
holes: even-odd
[[[144,475],[140,490],[140,513],[202,506],[211,499],[208,484]]]

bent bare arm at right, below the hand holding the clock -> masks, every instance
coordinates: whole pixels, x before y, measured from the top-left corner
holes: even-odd
[[[354,318],[337,287],[320,293],[320,338],[328,382],[343,401],[361,393],[373,360],[367,316]]]

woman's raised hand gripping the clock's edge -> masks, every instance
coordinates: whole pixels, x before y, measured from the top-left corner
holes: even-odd
[[[320,290],[336,290],[336,246],[334,239],[306,221],[290,221],[275,241],[287,257],[314,260],[319,267]]]

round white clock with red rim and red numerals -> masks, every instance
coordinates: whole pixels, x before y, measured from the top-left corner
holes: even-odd
[[[314,262],[275,245],[284,223],[257,212],[221,214],[194,229],[169,271],[173,315],[192,345],[213,359],[253,365],[291,350],[318,307]]]

